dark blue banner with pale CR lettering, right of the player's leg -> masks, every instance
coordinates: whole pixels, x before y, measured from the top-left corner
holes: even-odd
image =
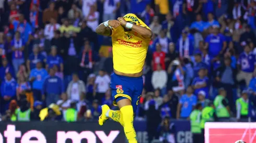
[[[186,120],[173,120],[176,128],[175,139],[177,143],[191,143],[192,133],[190,132],[190,122]],[[146,131],[146,121],[134,121],[134,128],[137,132],[138,143],[148,142]]]

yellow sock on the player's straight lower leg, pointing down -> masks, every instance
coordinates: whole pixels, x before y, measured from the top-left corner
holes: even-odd
[[[136,132],[133,127],[133,107],[131,105],[124,106],[120,109],[123,118],[123,127],[126,138],[129,143],[137,143]]]

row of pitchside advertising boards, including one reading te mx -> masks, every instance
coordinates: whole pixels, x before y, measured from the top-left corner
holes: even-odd
[[[171,121],[175,126],[177,143],[192,143],[189,121]],[[138,143],[147,143],[145,121],[134,121]],[[234,143],[243,139],[256,142],[256,123],[208,122],[205,124],[205,143]],[[0,122],[0,143],[123,143],[123,127],[108,121],[98,122]]]

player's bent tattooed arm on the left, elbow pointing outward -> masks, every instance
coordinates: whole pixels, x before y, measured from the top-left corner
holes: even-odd
[[[106,22],[101,23],[97,27],[96,33],[103,36],[111,36],[112,30],[110,29],[110,27],[118,28],[120,25],[121,25],[121,22],[118,20],[108,20]]]

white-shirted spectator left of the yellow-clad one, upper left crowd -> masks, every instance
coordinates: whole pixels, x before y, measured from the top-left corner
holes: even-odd
[[[50,18],[50,23],[46,24],[44,27],[44,37],[46,38],[46,40],[52,40],[52,38],[54,37],[54,32],[56,30],[59,30],[60,27],[61,25],[59,23],[56,23],[56,19]]]

